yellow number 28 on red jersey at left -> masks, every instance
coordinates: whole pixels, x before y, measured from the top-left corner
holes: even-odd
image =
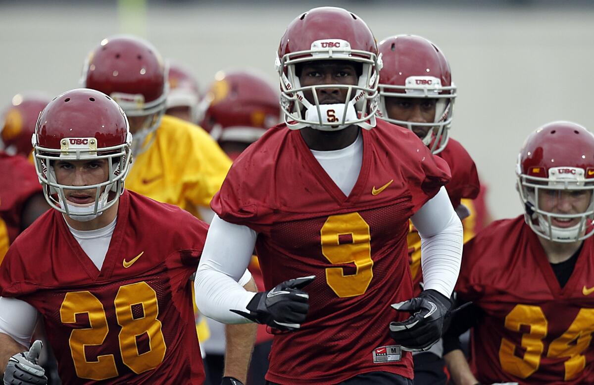
[[[161,321],[157,320],[159,305],[157,294],[146,282],[121,286],[115,296],[115,314],[119,326],[119,350],[122,362],[134,373],[140,374],[156,368],[165,357],[165,339]],[[134,317],[132,306],[141,305],[144,317]],[[106,380],[117,377],[118,368],[113,354],[97,356],[97,361],[87,361],[85,346],[102,345],[108,336],[109,326],[103,304],[88,291],[69,292],[60,307],[62,323],[75,323],[76,314],[86,313],[90,327],[74,329],[68,340],[76,374],[80,378]],[[136,336],[147,333],[150,350],[140,354]]]

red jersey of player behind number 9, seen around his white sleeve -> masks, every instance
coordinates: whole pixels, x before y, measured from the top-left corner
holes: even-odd
[[[451,180],[445,185],[445,190],[447,190],[454,209],[460,205],[460,200],[462,200],[462,198],[474,199],[478,197],[479,191],[481,190],[481,184],[479,182],[478,173],[476,172],[476,165],[462,144],[450,138],[445,149],[438,153],[437,156],[445,160],[448,166],[450,166]],[[466,225],[464,228],[465,241],[472,238],[475,233],[474,228],[469,228],[469,226]],[[421,237],[412,223],[410,223],[410,232],[407,236],[407,243],[409,245],[410,273],[413,278],[413,290],[415,296],[417,296],[421,293],[420,283],[423,282],[423,273],[421,269]]]

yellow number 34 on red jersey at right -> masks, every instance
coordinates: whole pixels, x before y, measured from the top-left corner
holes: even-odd
[[[580,309],[569,329],[549,345],[547,357],[567,357],[564,362],[565,376],[568,381],[580,374],[586,367],[583,351],[590,345],[594,332],[594,309]],[[529,326],[530,332],[522,334],[523,358],[514,352],[516,345],[503,338],[499,348],[501,368],[520,378],[527,378],[538,370],[541,363],[544,343],[542,339],[548,332],[548,321],[542,309],[535,305],[516,305],[505,317],[505,329],[519,332],[522,325]]]

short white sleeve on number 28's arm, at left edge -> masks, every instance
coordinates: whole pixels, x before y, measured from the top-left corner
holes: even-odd
[[[29,348],[36,323],[36,308],[20,299],[0,297],[0,333]]]

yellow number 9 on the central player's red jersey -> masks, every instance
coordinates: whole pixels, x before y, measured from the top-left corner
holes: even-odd
[[[326,269],[326,282],[337,296],[364,294],[373,278],[369,225],[359,213],[331,215],[322,226],[322,254],[331,264],[355,263],[355,274],[342,267]]]

